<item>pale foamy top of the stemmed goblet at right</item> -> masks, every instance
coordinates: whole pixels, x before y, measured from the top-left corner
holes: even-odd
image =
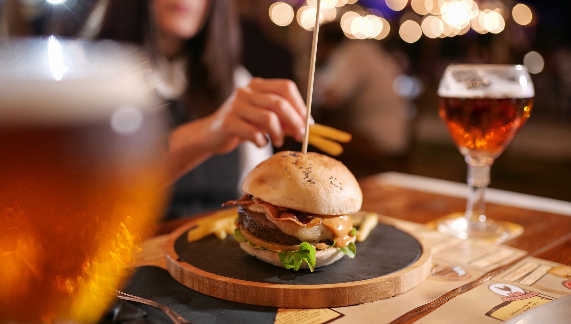
[[[532,79],[525,67],[506,64],[451,64],[438,95],[446,98],[532,98]]]

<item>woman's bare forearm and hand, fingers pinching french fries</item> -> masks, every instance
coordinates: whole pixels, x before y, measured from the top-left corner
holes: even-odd
[[[305,103],[291,80],[254,78],[237,89],[214,114],[171,132],[171,178],[183,175],[214,154],[233,151],[243,141],[280,147],[285,136],[303,140]]]

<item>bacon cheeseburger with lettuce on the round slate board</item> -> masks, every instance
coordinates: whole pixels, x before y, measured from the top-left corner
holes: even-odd
[[[363,193],[343,163],[319,153],[284,151],[244,179],[234,238],[246,253],[286,269],[355,257],[352,213]]]

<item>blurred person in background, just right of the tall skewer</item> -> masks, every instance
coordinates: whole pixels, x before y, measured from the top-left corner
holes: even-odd
[[[317,54],[319,121],[354,138],[341,160],[359,176],[398,169],[411,133],[409,100],[393,90],[399,64],[376,40],[348,39],[337,24],[321,27]]]

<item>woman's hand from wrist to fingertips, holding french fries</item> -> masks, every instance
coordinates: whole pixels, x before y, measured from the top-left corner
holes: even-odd
[[[254,78],[207,117],[210,129],[205,140],[215,153],[230,152],[246,140],[263,147],[268,143],[266,135],[274,146],[281,147],[285,136],[303,139],[305,112],[305,103],[291,80]]]

